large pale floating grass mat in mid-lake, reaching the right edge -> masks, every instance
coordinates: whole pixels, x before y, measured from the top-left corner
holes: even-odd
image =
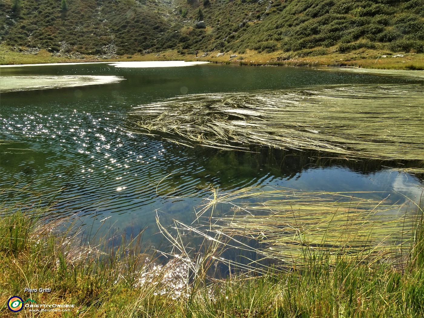
[[[135,107],[128,127],[191,147],[423,160],[423,104],[420,84],[198,94]]]

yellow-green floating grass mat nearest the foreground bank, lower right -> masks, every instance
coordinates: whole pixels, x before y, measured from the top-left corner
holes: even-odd
[[[176,222],[176,227],[210,241],[221,240],[225,247],[237,246],[244,254],[254,252],[257,259],[232,264],[245,269],[254,268],[258,260],[296,265],[305,257],[322,255],[330,261],[347,257],[360,262],[401,263],[410,252],[422,207],[361,198],[375,194],[255,187],[230,193],[214,190],[197,211],[197,225]],[[242,243],[246,239],[257,244]]]

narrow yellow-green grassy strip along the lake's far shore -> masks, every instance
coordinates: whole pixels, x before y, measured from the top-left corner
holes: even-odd
[[[123,61],[199,61],[248,66],[315,66],[379,70],[424,70],[424,53],[393,53],[391,56],[382,55],[381,53],[377,50],[361,49],[349,53],[335,52],[321,56],[298,56],[296,52],[276,51],[273,53],[257,53],[256,51],[248,50],[243,54],[227,52],[223,53],[223,55],[220,55],[222,53],[219,51],[199,52],[198,57],[195,57],[194,54],[182,55],[176,50],[167,50],[160,53],[126,54],[117,59],[96,59],[94,56],[86,56],[84,59],[77,60],[52,56],[46,50],[40,50],[36,55],[28,55],[2,45],[0,46],[0,66],[117,63]]]

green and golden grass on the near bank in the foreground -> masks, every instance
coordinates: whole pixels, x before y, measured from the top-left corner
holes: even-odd
[[[112,244],[103,239],[97,247],[81,245],[74,223],[48,222],[43,209],[10,211],[3,209],[0,217],[2,317],[424,315],[422,220],[416,223],[409,253],[400,266],[323,254],[300,257],[290,271],[271,268],[262,275],[207,280],[204,270],[187,275],[181,256],[165,266],[147,260],[137,253],[142,246],[140,234]],[[64,227],[72,231],[64,233]],[[199,257],[196,268],[207,268],[208,259]],[[29,293],[27,287],[51,288],[51,292]],[[26,307],[14,314],[6,304],[11,296],[35,304],[75,304],[75,308],[31,312]]]

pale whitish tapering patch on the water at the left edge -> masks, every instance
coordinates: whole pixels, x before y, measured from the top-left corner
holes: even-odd
[[[61,76],[1,76],[1,92],[17,92],[34,89],[87,86],[118,83],[125,78],[103,75],[61,75]]]

